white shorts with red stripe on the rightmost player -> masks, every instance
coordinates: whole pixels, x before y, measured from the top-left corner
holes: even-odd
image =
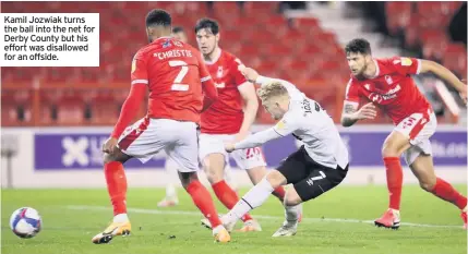
[[[437,119],[432,111],[429,111],[428,114],[413,113],[395,128],[396,131],[409,137],[411,147],[403,154],[408,166],[415,162],[420,154],[432,155],[429,138],[434,134],[436,128]]]

